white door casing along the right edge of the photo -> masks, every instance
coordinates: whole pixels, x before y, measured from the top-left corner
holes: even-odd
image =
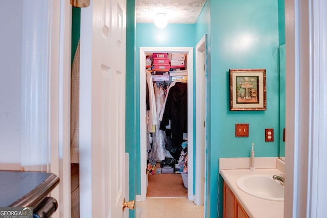
[[[287,0],[284,217],[327,213],[327,9],[325,0]],[[306,89],[303,89],[306,87]]]

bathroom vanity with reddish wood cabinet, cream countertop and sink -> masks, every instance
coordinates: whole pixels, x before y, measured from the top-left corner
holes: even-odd
[[[250,193],[246,192],[240,188],[241,187],[240,180],[242,180],[242,178],[252,178],[252,177],[271,178],[271,181],[269,182],[272,183],[269,182],[267,183],[268,184],[268,186],[266,186],[267,189],[270,189],[269,185],[271,184],[274,185],[274,183],[276,185],[281,185],[277,181],[272,180],[273,175],[279,175],[282,172],[280,169],[276,167],[276,164],[278,165],[276,161],[277,158],[275,159],[262,158],[261,160],[259,158],[256,159],[255,171],[250,171],[248,168],[246,168],[246,166],[248,166],[247,164],[249,163],[249,158],[247,159],[226,158],[226,159],[229,159],[227,160],[227,162],[230,161],[229,163],[231,163],[231,165],[229,165],[228,163],[220,164],[220,166],[223,167],[220,168],[220,175],[224,180],[224,186],[223,186],[224,187],[223,188],[224,216],[223,217],[283,218],[284,217],[284,191],[283,191],[283,198],[273,198],[275,196],[267,197],[265,196],[265,193],[263,193],[263,196],[255,195],[252,194],[251,192]],[[250,185],[252,185],[252,188],[255,189],[255,187],[257,186],[256,181],[254,181]],[[278,186],[276,187],[278,188]],[[274,188],[276,187],[271,187],[272,192],[270,195],[275,195],[275,192],[277,195],[277,191],[274,190]],[[259,191],[258,193],[261,193],[261,191]]]

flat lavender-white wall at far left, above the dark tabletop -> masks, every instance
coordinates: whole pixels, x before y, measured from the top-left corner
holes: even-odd
[[[0,163],[19,163],[22,4],[0,0],[0,5]]]

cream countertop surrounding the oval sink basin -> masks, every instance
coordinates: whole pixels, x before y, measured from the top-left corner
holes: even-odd
[[[250,171],[249,169],[222,169],[220,171],[224,181],[251,218],[283,218],[284,201],[269,201],[248,195],[238,188],[236,181],[245,175],[266,174],[273,176],[279,175],[279,173],[281,172],[276,168],[255,169],[255,171]]]

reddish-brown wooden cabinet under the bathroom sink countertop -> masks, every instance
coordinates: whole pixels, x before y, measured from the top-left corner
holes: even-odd
[[[234,193],[224,181],[224,218],[249,218]]]

